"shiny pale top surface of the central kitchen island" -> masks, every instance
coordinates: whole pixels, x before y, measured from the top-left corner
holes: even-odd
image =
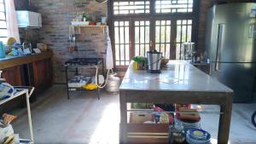
[[[188,61],[170,60],[161,73],[133,70],[131,62],[120,90],[233,92]]]

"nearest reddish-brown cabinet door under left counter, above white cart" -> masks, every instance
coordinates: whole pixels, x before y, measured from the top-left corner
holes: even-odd
[[[22,86],[21,67],[14,66],[3,69],[2,78],[6,79],[6,82],[14,86]]]

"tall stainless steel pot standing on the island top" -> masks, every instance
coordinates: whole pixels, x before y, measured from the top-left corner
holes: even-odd
[[[147,52],[148,72],[150,72],[150,73],[160,73],[162,55],[163,55],[162,53],[160,53],[156,50]]]

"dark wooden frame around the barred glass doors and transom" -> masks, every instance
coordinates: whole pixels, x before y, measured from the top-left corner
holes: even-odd
[[[177,20],[192,20],[192,37],[191,41],[195,42],[195,48],[197,48],[198,45],[198,26],[199,26],[199,14],[200,14],[200,3],[201,0],[194,0],[193,2],[193,12],[190,13],[156,13],[154,9],[154,3],[155,0],[149,0],[150,6],[149,6],[149,14],[113,14],[113,2],[124,2],[126,0],[108,0],[108,26],[109,26],[109,35],[111,37],[111,43],[113,45],[113,61],[114,61],[114,69],[116,71],[125,71],[127,66],[116,66],[115,64],[115,47],[114,47],[114,26],[113,22],[115,20],[129,20],[130,24],[132,23],[133,20],[150,20],[150,37],[153,42],[154,40],[154,35],[155,35],[155,26],[154,26],[154,21],[155,20],[171,20],[171,32],[172,36],[177,35],[177,25],[176,22]],[[130,41],[131,41],[131,46],[130,46],[130,58],[132,55],[134,55],[134,32],[131,31],[131,26],[130,27]],[[133,39],[133,40],[132,40]],[[154,44],[153,47],[150,47],[150,49],[154,49]],[[170,59],[175,60],[176,59],[176,37],[171,37],[171,48],[170,48]]]

